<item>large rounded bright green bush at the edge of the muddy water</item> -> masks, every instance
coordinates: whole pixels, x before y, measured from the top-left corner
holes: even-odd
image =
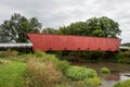
[[[96,77],[98,74],[94,70],[81,66],[70,66],[66,70],[65,75],[73,80],[83,80],[89,77]]]

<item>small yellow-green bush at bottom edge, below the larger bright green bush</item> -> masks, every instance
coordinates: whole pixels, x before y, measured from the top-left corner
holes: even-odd
[[[102,83],[101,83],[101,79],[98,78],[98,77],[94,77],[94,78],[87,78],[84,79],[84,84],[87,85],[87,87],[96,87],[96,86],[100,86]]]

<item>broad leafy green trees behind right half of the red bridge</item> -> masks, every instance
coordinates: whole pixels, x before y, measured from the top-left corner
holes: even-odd
[[[86,22],[72,23],[68,26],[60,27],[60,34],[64,35],[82,35],[82,36],[98,36],[98,37],[114,37],[120,35],[121,30],[117,22],[103,16],[92,17]]]

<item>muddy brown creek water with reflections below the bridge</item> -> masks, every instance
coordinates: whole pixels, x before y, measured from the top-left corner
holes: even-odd
[[[100,73],[101,67],[108,67],[112,74],[107,77],[102,77],[102,86],[101,87],[113,87],[114,84],[130,79],[130,64],[119,64],[119,63],[108,63],[108,62],[101,62],[101,63],[79,63],[73,62],[74,65],[81,65],[87,66],[89,69],[95,70]]]

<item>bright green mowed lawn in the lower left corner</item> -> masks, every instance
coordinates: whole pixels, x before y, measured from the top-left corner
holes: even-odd
[[[26,64],[21,61],[14,61],[6,58],[0,58],[0,87],[23,87]]]

